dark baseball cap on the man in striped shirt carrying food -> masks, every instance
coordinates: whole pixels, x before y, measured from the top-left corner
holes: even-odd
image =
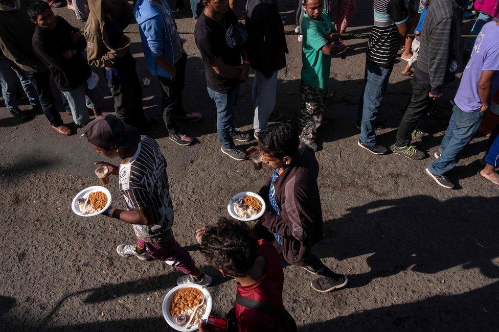
[[[125,125],[114,115],[100,115],[85,126],[90,143],[101,148],[131,148],[140,142],[139,129]]]

